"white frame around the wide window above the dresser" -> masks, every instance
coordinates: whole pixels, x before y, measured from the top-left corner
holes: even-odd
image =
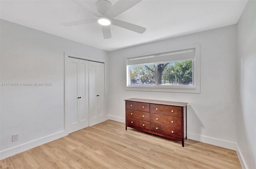
[[[178,50],[186,50],[191,48],[195,48],[195,58],[193,59],[193,74],[192,74],[193,85],[130,85],[130,65],[126,65],[126,90],[152,91],[152,92],[200,93],[200,45],[194,44],[194,45],[186,45],[183,47],[177,47],[177,48],[173,48],[170,52],[178,51]],[[157,54],[160,54],[160,53],[157,53]],[[186,60],[191,60],[191,59],[184,59],[184,60],[178,60],[178,61],[186,61]],[[174,62],[174,61],[170,61],[170,62]],[[157,70],[158,63],[153,63],[153,64],[155,65],[155,70]],[[150,64],[144,64],[144,65],[150,65]],[[158,76],[157,74],[158,74],[158,71],[155,71],[155,77]],[[158,84],[157,78],[155,78],[155,84]]]

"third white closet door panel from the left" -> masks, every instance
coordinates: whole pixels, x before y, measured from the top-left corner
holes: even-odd
[[[89,61],[89,126],[98,124],[97,62]]]

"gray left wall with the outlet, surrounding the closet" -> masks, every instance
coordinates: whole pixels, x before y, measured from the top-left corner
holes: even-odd
[[[1,20],[1,83],[52,83],[1,86],[1,155],[64,130],[64,52],[105,60],[108,70],[104,50]],[[17,133],[19,140],[12,142]]]

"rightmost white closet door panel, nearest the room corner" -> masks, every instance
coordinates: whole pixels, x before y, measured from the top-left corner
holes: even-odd
[[[104,63],[97,63],[97,115],[98,123],[104,122],[105,108],[105,78],[104,78]]]

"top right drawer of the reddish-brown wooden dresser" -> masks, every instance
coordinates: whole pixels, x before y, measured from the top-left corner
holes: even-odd
[[[181,107],[161,104],[150,104],[150,112],[167,116],[181,117]]]

